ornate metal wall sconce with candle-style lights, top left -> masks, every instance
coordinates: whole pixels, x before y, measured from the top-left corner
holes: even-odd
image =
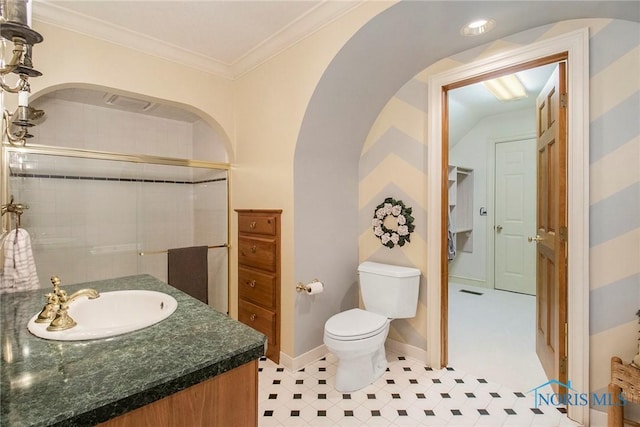
[[[33,0],[0,0],[0,111],[2,111],[2,143],[23,146],[32,135],[28,129],[34,126],[32,120],[42,117],[44,112],[29,107],[29,77],[39,77],[42,73],[33,68],[31,51],[34,44],[43,37],[31,29],[31,7]],[[10,59],[5,60],[5,51],[11,48]],[[15,85],[7,83],[10,74],[18,75]],[[5,108],[4,94],[18,96],[18,109],[10,113]]]

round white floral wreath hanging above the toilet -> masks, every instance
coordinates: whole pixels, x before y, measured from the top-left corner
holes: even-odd
[[[411,233],[415,229],[411,211],[412,209],[405,206],[402,200],[387,197],[376,206],[371,221],[373,234],[389,249],[395,245],[404,246],[406,242],[411,241]]]

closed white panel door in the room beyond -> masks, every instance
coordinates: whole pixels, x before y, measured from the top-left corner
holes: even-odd
[[[495,288],[536,294],[536,140],[496,144]]]

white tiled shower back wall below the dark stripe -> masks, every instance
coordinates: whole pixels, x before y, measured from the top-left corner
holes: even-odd
[[[136,273],[166,280],[166,255],[140,260],[138,248],[154,251],[192,244],[190,185],[19,179],[18,194],[30,205],[24,226],[33,239],[43,287],[53,274],[63,283]],[[15,180],[12,184],[19,187]]]

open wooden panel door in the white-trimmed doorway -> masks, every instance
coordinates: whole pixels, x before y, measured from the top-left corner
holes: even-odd
[[[537,235],[536,352],[550,380],[567,383],[567,128],[566,64],[536,100]],[[555,391],[557,387],[554,385]]]

